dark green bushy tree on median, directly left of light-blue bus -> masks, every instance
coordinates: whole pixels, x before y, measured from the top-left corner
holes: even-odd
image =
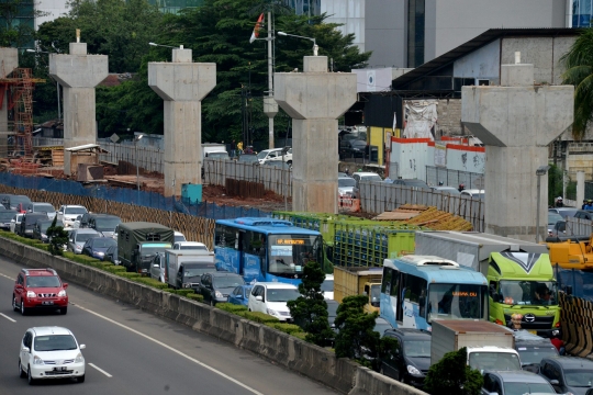
[[[373,330],[377,313],[365,313],[366,295],[346,296],[337,308],[334,325],[336,335],[336,357],[350,358],[369,365],[369,360],[377,358],[380,335]]]

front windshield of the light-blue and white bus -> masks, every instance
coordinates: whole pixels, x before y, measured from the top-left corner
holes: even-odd
[[[421,304],[422,302],[421,296]],[[485,285],[430,284],[428,289],[427,318],[488,319],[488,293]]]

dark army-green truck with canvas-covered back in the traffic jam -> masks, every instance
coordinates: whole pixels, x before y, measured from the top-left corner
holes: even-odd
[[[158,252],[174,244],[174,229],[160,224],[122,223],[118,228],[118,258],[127,271],[148,274],[150,262]]]

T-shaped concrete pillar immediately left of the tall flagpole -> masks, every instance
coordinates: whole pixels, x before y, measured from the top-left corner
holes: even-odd
[[[165,196],[202,184],[202,99],[216,86],[216,64],[191,59],[191,49],[180,48],[172,63],[148,64],[148,86],[165,101]]]

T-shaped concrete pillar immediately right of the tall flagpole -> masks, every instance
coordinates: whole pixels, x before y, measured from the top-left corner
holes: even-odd
[[[356,102],[356,75],[327,72],[305,56],[304,72],[276,72],[275,99],[292,121],[292,207],[337,213],[337,119]]]

